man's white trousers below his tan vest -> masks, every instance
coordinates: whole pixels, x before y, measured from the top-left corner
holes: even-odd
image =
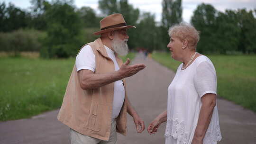
[[[111,123],[110,139],[103,141],[91,136],[82,135],[70,128],[70,144],[116,144],[117,143],[117,129],[116,120]]]

